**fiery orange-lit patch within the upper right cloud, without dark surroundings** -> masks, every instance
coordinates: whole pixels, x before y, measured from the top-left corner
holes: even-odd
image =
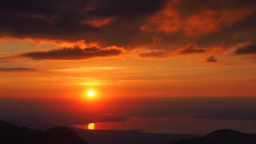
[[[205,8],[197,13],[182,16],[176,7],[182,1],[169,1],[166,8],[154,14],[140,30],[158,30],[166,34],[182,32],[186,37],[202,36],[213,33],[223,26],[230,26],[254,13],[254,7],[214,10]]]

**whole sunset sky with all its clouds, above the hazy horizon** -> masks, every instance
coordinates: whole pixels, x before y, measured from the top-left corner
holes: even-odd
[[[256,96],[254,0],[3,0],[0,97]]]

